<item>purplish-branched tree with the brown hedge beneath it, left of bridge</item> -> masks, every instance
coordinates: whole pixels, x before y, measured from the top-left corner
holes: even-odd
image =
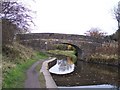
[[[2,20],[3,41],[13,41],[17,33],[30,32],[30,25],[34,24],[31,16],[33,12],[30,9],[17,1],[3,1],[1,5],[0,18]]]

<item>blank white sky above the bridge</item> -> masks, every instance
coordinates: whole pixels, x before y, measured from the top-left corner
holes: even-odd
[[[119,0],[35,0],[33,33],[84,34],[92,27],[112,34],[117,30],[113,9]]]

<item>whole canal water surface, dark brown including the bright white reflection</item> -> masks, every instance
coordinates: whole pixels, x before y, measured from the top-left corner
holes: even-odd
[[[55,67],[56,64],[57,67]],[[50,72],[59,88],[119,87],[118,67],[87,63],[80,60],[77,60],[77,64],[74,64],[73,60],[70,61],[70,58],[61,59],[61,61],[58,59],[56,64],[53,65],[56,71],[53,69],[53,72],[52,70]],[[65,72],[67,73],[65,74]]]

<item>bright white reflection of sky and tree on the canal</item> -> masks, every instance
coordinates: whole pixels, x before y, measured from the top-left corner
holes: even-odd
[[[74,63],[71,58],[67,57],[64,60],[57,60],[57,63],[49,69],[49,72],[54,74],[68,74],[74,71]]]

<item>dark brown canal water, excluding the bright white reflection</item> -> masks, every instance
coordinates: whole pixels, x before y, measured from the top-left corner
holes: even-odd
[[[119,87],[118,67],[87,63],[77,60],[74,72],[65,75],[52,74],[57,86],[112,85]]]

